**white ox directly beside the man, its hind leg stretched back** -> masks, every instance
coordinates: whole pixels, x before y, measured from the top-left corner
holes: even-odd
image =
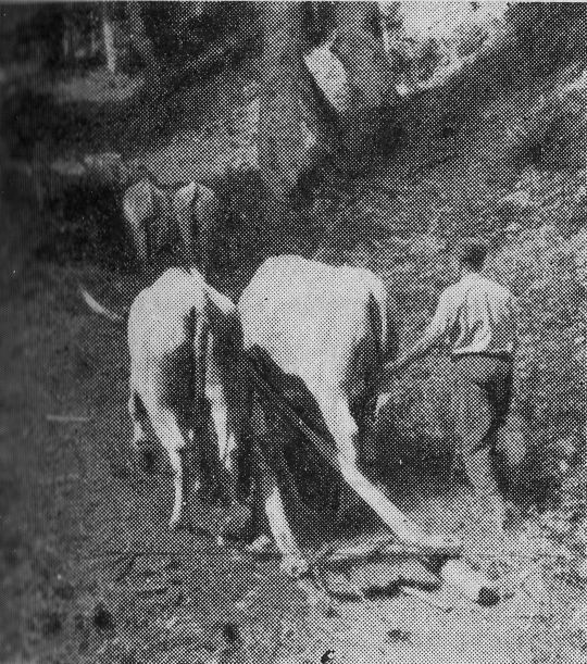
[[[284,376],[301,379],[310,392],[347,485],[401,540],[435,552],[455,548],[450,539],[426,535],[358,468],[364,433],[359,425],[376,396],[382,363],[395,352],[391,309],[382,280],[363,268],[333,267],[297,255],[270,258],[243,290],[238,313],[245,350],[268,356],[274,376],[276,365]],[[289,559],[303,561],[275,483],[265,489],[265,499],[278,548]]]

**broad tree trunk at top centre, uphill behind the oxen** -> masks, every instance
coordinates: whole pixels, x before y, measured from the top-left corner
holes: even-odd
[[[259,164],[278,201],[299,192],[333,139],[303,62],[302,9],[299,2],[263,3]]]

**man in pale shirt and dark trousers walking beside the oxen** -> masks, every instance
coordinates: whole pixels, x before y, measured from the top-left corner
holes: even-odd
[[[512,293],[482,276],[487,246],[464,240],[455,252],[460,280],[441,295],[433,321],[387,369],[398,374],[441,341],[451,346],[452,409],[458,452],[475,491],[478,525],[501,531],[504,504],[496,481],[497,435],[512,391],[515,313]]]

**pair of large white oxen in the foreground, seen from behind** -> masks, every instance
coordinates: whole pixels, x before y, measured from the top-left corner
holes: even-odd
[[[203,467],[198,450],[213,431],[227,498],[239,498],[239,463],[248,448],[255,465],[252,484],[282,554],[282,569],[290,575],[307,569],[279,491],[285,467],[280,442],[260,444],[249,435],[253,367],[254,375],[290,401],[292,411],[317,423],[342,486],[398,539],[432,553],[457,548],[450,537],[426,534],[359,469],[358,450],[373,418],[380,368],[396,352],[394,317],[385,285],[369,270],[298,255],[265,260],[237,304],[196,268],[167,270],[142,290],[128,314],[128,408],[134,444],[140,448],[152,429],[168,454],[171,527],[183,519],[185,460],[195,461],[192,471]],[[304,403],[295,402],[300,394]],[[202,480],[199,476],[191,487]]]

